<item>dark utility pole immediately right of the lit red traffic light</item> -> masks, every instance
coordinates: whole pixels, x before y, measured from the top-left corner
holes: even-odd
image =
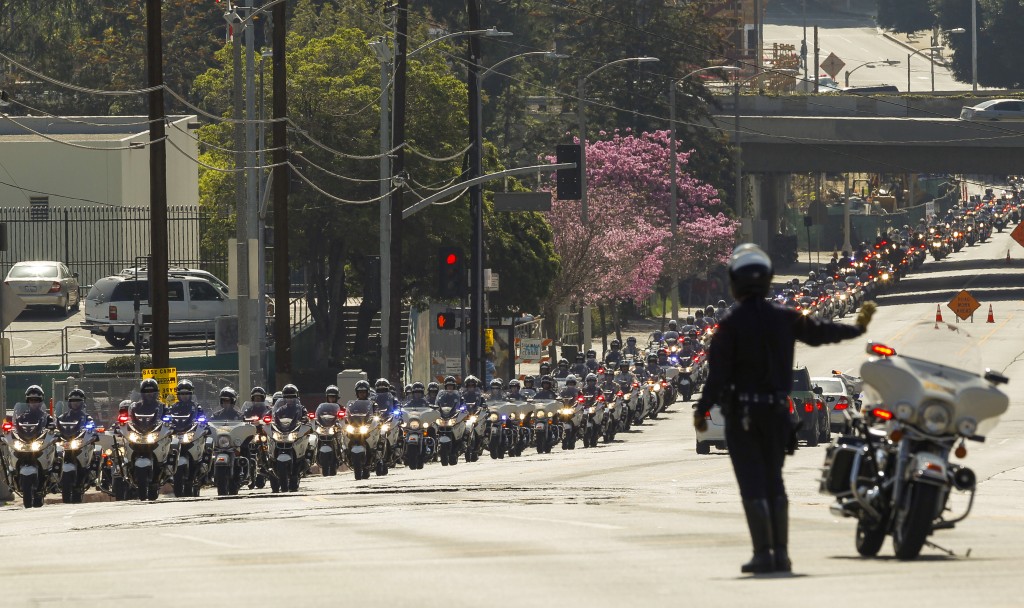
[[[480,29],[479,0],[466,0],[470,31]],[[469,141],[472,143],[469,153],[468,179],[483,175],[483,121],[480,117],[480,37],[469,38],[469,74],[466,84],[469,85]],[[479,184],[469,190],[469,215],[472,223],[472,270],[470,277],[470,331],[469,331],[469,370],[480,382],[486,378],[486,363],[483,353],[483,189]]]

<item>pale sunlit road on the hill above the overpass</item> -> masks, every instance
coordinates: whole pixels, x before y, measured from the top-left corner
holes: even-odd
[[[778,0],[768,3],[765,16],[765,47],[772,43],[793,44],[798,52],[804,39],[804,11],[800,0]],[[900,91],[907,91],[906,62],[911,51],[883,38],[873,19],[867,15],[838,12],[811,3],[807,7],[807,49],[808,61],[814,62],[814,26],[818,26],[819,61],[824,61],[828,53],[836,53],[846,62],[845,71],[853,71],[868,61],[884,59],[898,60],[899,66],[879,66],[862,68],[850,76],[850,86],[878,84],[896,85]],[[932,88],[931,62],[921,53],[910,59],[910,91],[930,91]],[[840,86],[846,86],[844,73],[836,77]],[[818,74],[823,74],[819,70]],[[814,71],[810,70],[810,78]],[[935,90],[970,90],[971,83],[953,80],[952,74],[941,64],[935,66]]]

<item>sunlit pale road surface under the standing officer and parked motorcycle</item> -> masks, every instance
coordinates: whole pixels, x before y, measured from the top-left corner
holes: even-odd
[[[795,573],[741,576],[750,546],[728,458],[694,453],[689,404],[677,403],[594,449],[313,478],[297,494],[6,507],[2,604],[1019,605],[1024,261],[1007,267],[1010,247],[1004,233],[929,262],[905,294],[882,299],[870,328],[898,341],[963,287],[984,296],[985,312],[993,302],[996,322],[979,315],[971,330],[987,364],[1012,379],[1012,403],[988,441],[969,446],[974,514],[934,538],[956,557],[926,548],[901,563],[888,544],[880,559],[856,557],[852,520],[817,493],[824,448],[803,447],[785,469]],[[801,347],[797,358],[812,374],[854,370],[863,347]]]

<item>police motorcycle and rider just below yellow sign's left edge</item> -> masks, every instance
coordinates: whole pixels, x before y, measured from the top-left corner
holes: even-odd
[[[127,483],[125,492],[116,491],[115,497],[127,497],[127,491],[134,489],[140,501],[156,501],[160,487],[175,472],[169,462],[175,433],[171,417],[164,414],[164,404],[158,400],[157,381],[143,380],[139,392],[141,399],[118,415],[114,427],[115,468]]]

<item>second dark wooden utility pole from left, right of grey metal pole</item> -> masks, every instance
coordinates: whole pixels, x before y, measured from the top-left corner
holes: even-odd
[[[276,383],[292,380],[292,323],[288,264],[288,89],[285,63],[285,3],[273,7],[273,343]]]

